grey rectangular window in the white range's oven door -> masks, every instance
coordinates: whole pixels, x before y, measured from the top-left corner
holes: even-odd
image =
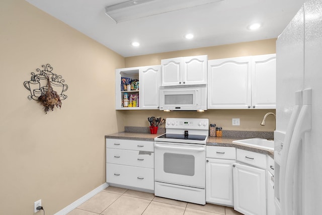
[[[165,153],[164,171],[166,173],[193,176],[195,174],[195,157],[193,155]]]

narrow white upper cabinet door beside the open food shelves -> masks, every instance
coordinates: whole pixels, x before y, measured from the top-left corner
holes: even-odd
[[[140,68],[141,109],[159,109],[160,70],[160,65]]]

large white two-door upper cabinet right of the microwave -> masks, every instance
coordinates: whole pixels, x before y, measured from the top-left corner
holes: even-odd
[[[208,109],[274,109],[276,54],[208,61]]]

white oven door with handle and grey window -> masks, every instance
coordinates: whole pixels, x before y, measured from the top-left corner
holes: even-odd
[[[154,142],[154,180],[205,188],[206,146]]]

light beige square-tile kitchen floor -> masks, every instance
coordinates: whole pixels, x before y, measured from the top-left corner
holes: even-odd
[[[231,207],[199,205],[109,186],[68,215],[240,215]]]

